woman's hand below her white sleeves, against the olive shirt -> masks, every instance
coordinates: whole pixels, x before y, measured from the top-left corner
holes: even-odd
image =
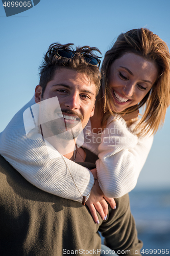
[[[99,224],[99,219],[98,219],[98,215],[96,214],[96,210],[99,212],[101,218],[103,220],[106,220],[107,214],[108,214],[108,204],[107,204],[107,202],[110,204],[110,206],[112,208],[116,208],[115,207],[116,203],[115,203],[113,198],[108,198],[108,197],[105,197],[103,195],[103,192],[102,192],[102,190],[99,186],[99,183],[98,183],[96,168],[92,169],[91,172],[94,176],[94,179],[96,179],[96,181],[95,181],[95,184],[93,185],[93,187],[91,189],[91,193],[90,193],[90,196],[89,196],[89,198],[86,202],[86,205],[88,206],[95,223]]]

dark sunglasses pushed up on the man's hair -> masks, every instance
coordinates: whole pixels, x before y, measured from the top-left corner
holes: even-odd
[[[53,52],[56,52],[57,55],[61,58],[68,58],[68,59],[74,58],[74,56],[76,54],[76,52],[74,52],[74,51],[67,50],[67,49],[58,49],[58,48],[53,48],[51,53],[53,53]],[[88,64],[90,64],[92,66],[100,67],[100,63],[101,63],[100,59],[95,58],[88,54],[82,54],[82,55]]]

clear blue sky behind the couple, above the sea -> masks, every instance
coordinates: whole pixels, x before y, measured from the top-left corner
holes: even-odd
[[[53,42],[98,47],[102,54],[121,33],[146,27],[170,48],[169,0],[41,0],[32,9],[6,17],[0,2],[0,132],[27,103],[38,84],[43,53]],[[170,184],[170,110],[155,136],[138,188],[166,188]]]

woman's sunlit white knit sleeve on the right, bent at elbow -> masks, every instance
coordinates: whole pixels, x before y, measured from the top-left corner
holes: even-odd
[[[101,141],[99,160],[96,161],[99,185],[105,196],[122,197],[135,187],[153,136],[138,137],[123,118],[113,122],[109,118]]]

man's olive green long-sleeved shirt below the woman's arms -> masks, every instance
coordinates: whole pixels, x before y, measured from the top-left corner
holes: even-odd
[[[99,216],[100,224],[95,224],[86,206],[40,190],[0,155],[0,255],[99,256],[98,231],[115,252],[140,255],[134,253],[142,243],[137,239],[129,197],[115,201],[116,210],[109,209],[108,219],[102,221]]]

